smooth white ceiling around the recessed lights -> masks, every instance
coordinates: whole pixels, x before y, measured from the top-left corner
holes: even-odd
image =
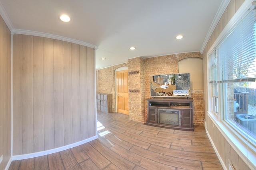
[[[98,70],[135,57],[202,51],[224,2],[228,0],[0,0],[0,14],[12,30],[98,46]],[[70,16],[69,23],[58,19],[63,13]],[[178,34],[184,38],[175,39]]]

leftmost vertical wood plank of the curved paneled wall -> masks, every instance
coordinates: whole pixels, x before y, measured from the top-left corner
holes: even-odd
[[[13,155],[22,154],[22,35],[13,35]]]

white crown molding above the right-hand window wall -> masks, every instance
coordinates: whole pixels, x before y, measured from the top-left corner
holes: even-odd
[[[207,35],[206,35],[206,37],[204,39],[204,43],[203,43],[203,45],[201,47],[201,50],[200,50],[201,54],[203,53],[204,48],[205,48],[206,44],[208,43],[208,41],[209,41],[209,39],[210,39],[210,37],[211,37],[215,27],[217,26],[220,18],[222,17],[224,11],[228,7],[229,2],[230,2],[230,0],[222,0],[222,3],[220,4],[220,8],[218,9],[218,11],[217,11],[217,13],[216,13],[216,15],[214,17],[214,20],[212,21],[210,29],[208,30],[208,33],[207,33]]]

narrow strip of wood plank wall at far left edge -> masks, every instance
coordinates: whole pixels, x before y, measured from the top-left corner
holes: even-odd
[[[3,170],[11,158],[11,33],[0,16],[0,157]]]

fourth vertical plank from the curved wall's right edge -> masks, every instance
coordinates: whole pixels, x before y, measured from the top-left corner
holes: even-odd
[[[73,143],[71,43],[63,42],[64,144]]]

